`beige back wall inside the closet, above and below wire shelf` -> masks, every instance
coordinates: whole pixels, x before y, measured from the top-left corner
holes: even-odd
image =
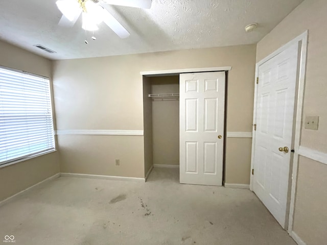
[[[179,76],[152,77],[152,93],[179,93]],[[152,101],[153,164],[179,165],[179,101]]]

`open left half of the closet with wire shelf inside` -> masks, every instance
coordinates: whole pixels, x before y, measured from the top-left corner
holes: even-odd
[[[179,183],[179,74],[143,76],[143,95],[146,178]]]

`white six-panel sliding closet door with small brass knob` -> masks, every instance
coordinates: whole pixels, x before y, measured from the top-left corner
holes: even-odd
[[[180,74],[179,82],[180,183],[221,186],[225,72]]]

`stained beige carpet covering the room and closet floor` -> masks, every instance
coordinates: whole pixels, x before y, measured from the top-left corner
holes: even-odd
[[[296,244],[249,190],[181,185],[167,168],[147,183],[60,177],[0,207],[6,235],[17,245]]]

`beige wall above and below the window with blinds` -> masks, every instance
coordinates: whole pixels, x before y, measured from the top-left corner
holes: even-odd
[[[0,41],[0,65],[51,78],[52,62]],[[0,167],[0,201],[59,173],[58,153],[53,152]]]

